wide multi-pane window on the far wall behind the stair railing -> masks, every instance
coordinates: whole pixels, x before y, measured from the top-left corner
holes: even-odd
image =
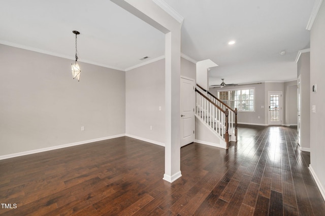
[[[238,111],[243,112],[254,111],[254,89],[219,91],[218,97],[232,109],[237,108]]]

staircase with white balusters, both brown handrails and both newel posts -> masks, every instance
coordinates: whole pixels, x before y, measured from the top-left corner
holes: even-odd
[[[215,97],[210,92],[197,85],[196,88],[196,117],[201,123],[219,137],[220,143],[229,148],[230,141],[237,141],[237,109]]]

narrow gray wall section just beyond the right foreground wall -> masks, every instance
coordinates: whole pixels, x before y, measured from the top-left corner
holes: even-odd
[[[310,53],[302,53],[297,62],[297,71],[301,79],[301,133],[300,147],[310,148]]]

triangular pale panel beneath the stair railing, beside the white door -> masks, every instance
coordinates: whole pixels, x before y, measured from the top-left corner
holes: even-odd
[[[195,115],[195,117],[195,141],[201,144],[226,149],[227,144],[224,139],[210,128],[199,116]]]

